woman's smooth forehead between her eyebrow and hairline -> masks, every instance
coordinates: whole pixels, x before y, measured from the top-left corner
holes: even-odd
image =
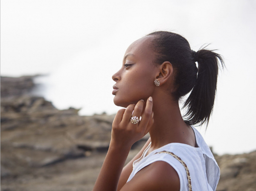
[[[153,36],[145,36],[134,41],[130,46],[128,46],[125,55],[132,54],[139,60],[152,60],[154,58],[154,52],[151,50],[150,45],[153,38]]]

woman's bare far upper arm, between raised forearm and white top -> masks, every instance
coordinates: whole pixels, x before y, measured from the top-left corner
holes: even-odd
[[[148,141],[145,143],[143,148],[141,148],[140,152],[137,153],[137,155],[134,156],[134,158],[131,159],[131,161],[128,162],[127,165],[125,165],[125,167],[122,169],[122,173],[120,175],[118,185],[117,185],[117,191],[119,191],[125,185],[125,183],[127,182],[133,170],[133,166],[132,166],[133,162],[140,158],[140,156],[143,154],[143,151],[149,145],[150,142],[151,142],[151,138],[149,137]]]

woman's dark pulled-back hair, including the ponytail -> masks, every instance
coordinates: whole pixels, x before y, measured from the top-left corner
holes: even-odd
[[[171,95],[179,100],[192,90],[183,105],[183,109],[187,108],[184,121],[191,125],[206,122],[208,126],[217,90],[219,63],[221,67],[225,66],[222,56],[205,49],[206,46],[195,52],[184,37],[173,32],[157,31],[148,35],[155,36],[150,45],[156,53],[153,63],[169,61],[174,68],[176,88]]]

